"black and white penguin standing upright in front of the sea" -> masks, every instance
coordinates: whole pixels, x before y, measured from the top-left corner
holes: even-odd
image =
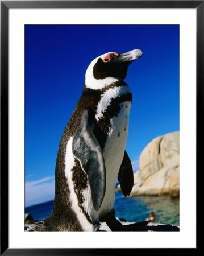
[[[116,180],[130,195],[133,170],[125,151],[132,102],[124,82],[140,49],[105,53],[91,61],[84,89],[66,125],[57,152],[53,212],[34,230],[98,231],[106,222],[113,231],[139,230],[148,222],[122,225],[115,217]]]

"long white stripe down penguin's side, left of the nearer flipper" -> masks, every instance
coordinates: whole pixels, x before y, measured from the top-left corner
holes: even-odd
[[[93,231],[94,226],[88,222],[88,220],[86,219],[86,216],[82,212],[81,208],[78,206],[77,195],[74,192],[74,183],[72,180],[72,168],[74,167],[75,162],[74,162],[74,156],[72,152],[72,141],[73,141],[73,138],[70,137],[66,146],[66,155],[65,155],[65,176],[66,176],[67,184],[70,191],[70,201],[72,203],[72,209],[76,213],[77,219],[80,222],[82,228],[85,231]]]

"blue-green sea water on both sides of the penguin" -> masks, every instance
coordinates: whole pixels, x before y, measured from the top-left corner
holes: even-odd
[[[52,213],[53,200],[25,208],[34,220],[43,220]],[[179,199],[169,196],[123,197],[122,192],[115,193],[114,208],[116,217],[130,222],[146,220],[151,212],[156,215],[156,223],[179,226]]]

